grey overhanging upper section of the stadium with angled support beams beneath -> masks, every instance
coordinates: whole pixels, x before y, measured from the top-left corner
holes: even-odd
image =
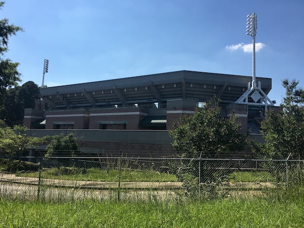
[[[256,78],[268,94],[270,78]],[[247,90],[251,77],[197,71],[174,71],[41,88],[41,98],[53,109],[148,104],[170,99],[208,101],[216,95],[223,103],[235,102]]]

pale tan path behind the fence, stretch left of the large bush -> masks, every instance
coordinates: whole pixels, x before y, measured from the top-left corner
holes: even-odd
[[[14,199],[65,200],[172,200],[177,195],[174,189],[182,187],[181,182],[118,182],[79,181],[19,177],[14,174],[0,173],[0,195]]]

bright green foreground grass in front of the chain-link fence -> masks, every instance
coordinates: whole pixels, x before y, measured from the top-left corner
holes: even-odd
[[[194,202],[19,201],[0,198],[0,227],[302,227],[302,188],[267,198]]]

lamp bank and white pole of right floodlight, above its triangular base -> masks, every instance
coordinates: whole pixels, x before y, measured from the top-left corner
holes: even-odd
[[[256,22],[256,14],[248,14],[247,15],[247,26],[246,26],[246,35],[252,36],[252,87],[256,87],[255,82],[255,35],[257,29],[257,22]]]

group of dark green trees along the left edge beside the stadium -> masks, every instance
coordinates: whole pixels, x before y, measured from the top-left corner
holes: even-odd
[[[0,2],[0,9],[4,2]],[[5,58],[9,37],[23,28],[9,23],[9,19],[0,20],[0,120],[9,127],[23,124],[24,108],[33,108],[39,98],[39,87],[29,81],[19,86],[21,73],[18,62]]]

